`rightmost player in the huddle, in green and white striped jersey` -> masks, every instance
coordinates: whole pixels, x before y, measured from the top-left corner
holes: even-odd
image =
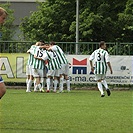
[[[64,54],[63,50],[55,44],[55,42],[50,43],[49,50],[52,50],[54,53],[56,53],[60,63],[61,63],[61,69],[60,69],[60,85],[59,85],[59,92],[63,92],[63,81],[66,80],[67,84],[67,91],[70,91],[70,80],[69,80],[69,62],[66,58],[66,55]]]

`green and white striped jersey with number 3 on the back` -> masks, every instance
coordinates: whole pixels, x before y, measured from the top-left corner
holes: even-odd
[[[94,60],[95,62],[95,74],[106,74],[107,72],[107,62],[109,62],[109,54],[104,49],[97,49],[95,50],[89,60]]]

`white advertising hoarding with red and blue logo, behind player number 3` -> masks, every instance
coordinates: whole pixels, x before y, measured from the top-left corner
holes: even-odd
[[[89,55],[68,55],[70,80],[72,83],[95,83],[94,74],[91,74]],[[133,84],[133,57],[110,56],[113,74],[108,69],[106,80],[109,84]]]

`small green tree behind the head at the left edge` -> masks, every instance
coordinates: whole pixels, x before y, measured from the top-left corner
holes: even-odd
[[[11,10],[10,3],[6,4],[0,4],[0,7],[3,7],[7,12],[8,12],[8,17],[4,25],[0,26],[0,40],[2,41],[9,41],[12,40],[12,36],[14,35],[14,30],[13,30],[13,10]]]

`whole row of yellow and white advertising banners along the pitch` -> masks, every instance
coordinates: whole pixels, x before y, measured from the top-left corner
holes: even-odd
[[[91,74],[89,55],[67,55],[71,83],[96,83]],[[25,82],[28,54],[1,53],[0,75],[5,82]],[[108,69],[106,81],[109,84],[133,84],[133,56],[110,56],[113,74]]]

